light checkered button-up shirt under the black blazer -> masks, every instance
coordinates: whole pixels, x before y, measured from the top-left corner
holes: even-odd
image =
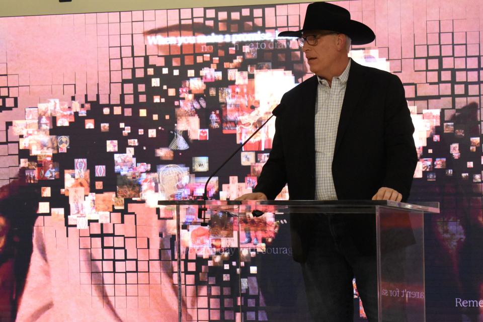
[[[332,86],[326,79],[318,78],[317,103],[315,104],[315,200],[337,200],[332,160],[336,146],[337,128],[342,102],[346,93],[351,60],[338,77],[332,78]]]

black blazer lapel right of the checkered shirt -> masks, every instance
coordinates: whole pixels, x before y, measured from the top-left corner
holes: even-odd
[[[352,60],[352,58],[351,58]],[[339,127],[337,129],[336,146],[334,149],[334,156],[336,155],[344,137],[347,126],[350,123],[356,104],[359,101],[361,94],[366,84],[364,79],[364,70],[361,65],[354,60],[351,62],[349,70],[349,78],[347,79],[346,93],[342,103],[341,117],[339,119]]]

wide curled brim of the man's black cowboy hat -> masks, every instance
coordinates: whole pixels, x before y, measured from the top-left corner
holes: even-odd
[[[376,38],[371,28],[355,20],[351,20],[349,25],[346,26],[344,30],[342,28],[335,28],[334,26],[327,26],[327,25],[324,26],[324,24],[320,24],[319,28],[317,29],[332,30],[332,31],[340,32],[342,34],[346,34],[351,38],[351,42],[353,45],[365,45],[370,42],[373,42],[374,39]],[[282,31],[281,33],[278,34],[278,37],[299,38],[299,37],[302,37],[302,33],[304,31],[305,31],[304,29]]]

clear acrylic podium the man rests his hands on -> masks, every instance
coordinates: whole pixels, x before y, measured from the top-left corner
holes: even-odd
[[[183,200],[159,206],[160,216],[176,222],[171,249],[179,321],[310,320],[289,228],[289,214],[310,213],[374,214],[379,321],[425,321],[424,214],[439,213],[438,203]],[[364,312],[356,288],[357,321]]]

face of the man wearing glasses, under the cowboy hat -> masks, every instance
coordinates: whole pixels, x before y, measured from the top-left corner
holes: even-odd
[[[318,34],[322,35],[317,36],[316,45],[311,46],[305,41],[302,51],[307,58],[310,71],[320,77],[325,77],[331,65],[341,55],[338,42],[340,41],[339,37],[343,35],[330,33],[327,30],[311,30],[304,32],[303,37]]]

